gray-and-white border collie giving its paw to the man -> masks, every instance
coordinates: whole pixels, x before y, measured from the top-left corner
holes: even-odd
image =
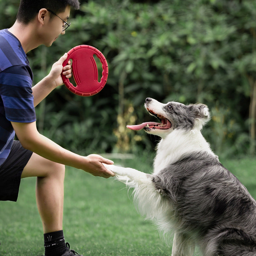
[[[105,165],[134,188],[140,213],[165,235],[174,231],[172,256],[256,255],[256,201],[218,160],[201,134],[210,119],[203,104],[163,104],[147,98],[145,108],[161,123],[128,125],[162,139],[154,172]]]

